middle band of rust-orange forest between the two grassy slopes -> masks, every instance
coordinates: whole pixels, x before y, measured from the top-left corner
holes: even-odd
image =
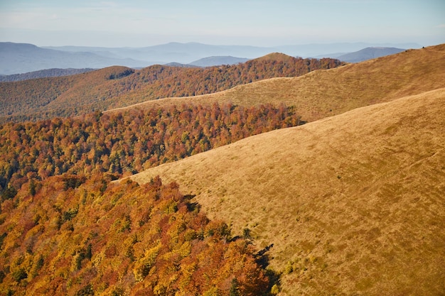
[[[0,125],[3,199],[53,175],[132,175],[218,146],[301,124],[292,107],[182,105]]]

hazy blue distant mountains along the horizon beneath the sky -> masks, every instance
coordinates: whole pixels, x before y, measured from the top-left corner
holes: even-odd
[[[416,43],[331,43],[265,48],[241,45],[206,45],[202,43],[166,43],[145,48],[80,46],[40,48],[28,43],[0,43],[0,75],[26,73],[51,68],[103,68],[112,65],[141,68],[171,62],[207,67],[209,65],[217,65],[218,63],[221,65],[232,64],[234,61],[235,63],[242,62],[245,59],[250,60],[276,52],[294,57],[338,58],[345,53],[370,47],[421,48],[422,46]],[[233,57],[232,60],[227,60],[229,57]],[[200,61],[204,58],[206,60]]]

